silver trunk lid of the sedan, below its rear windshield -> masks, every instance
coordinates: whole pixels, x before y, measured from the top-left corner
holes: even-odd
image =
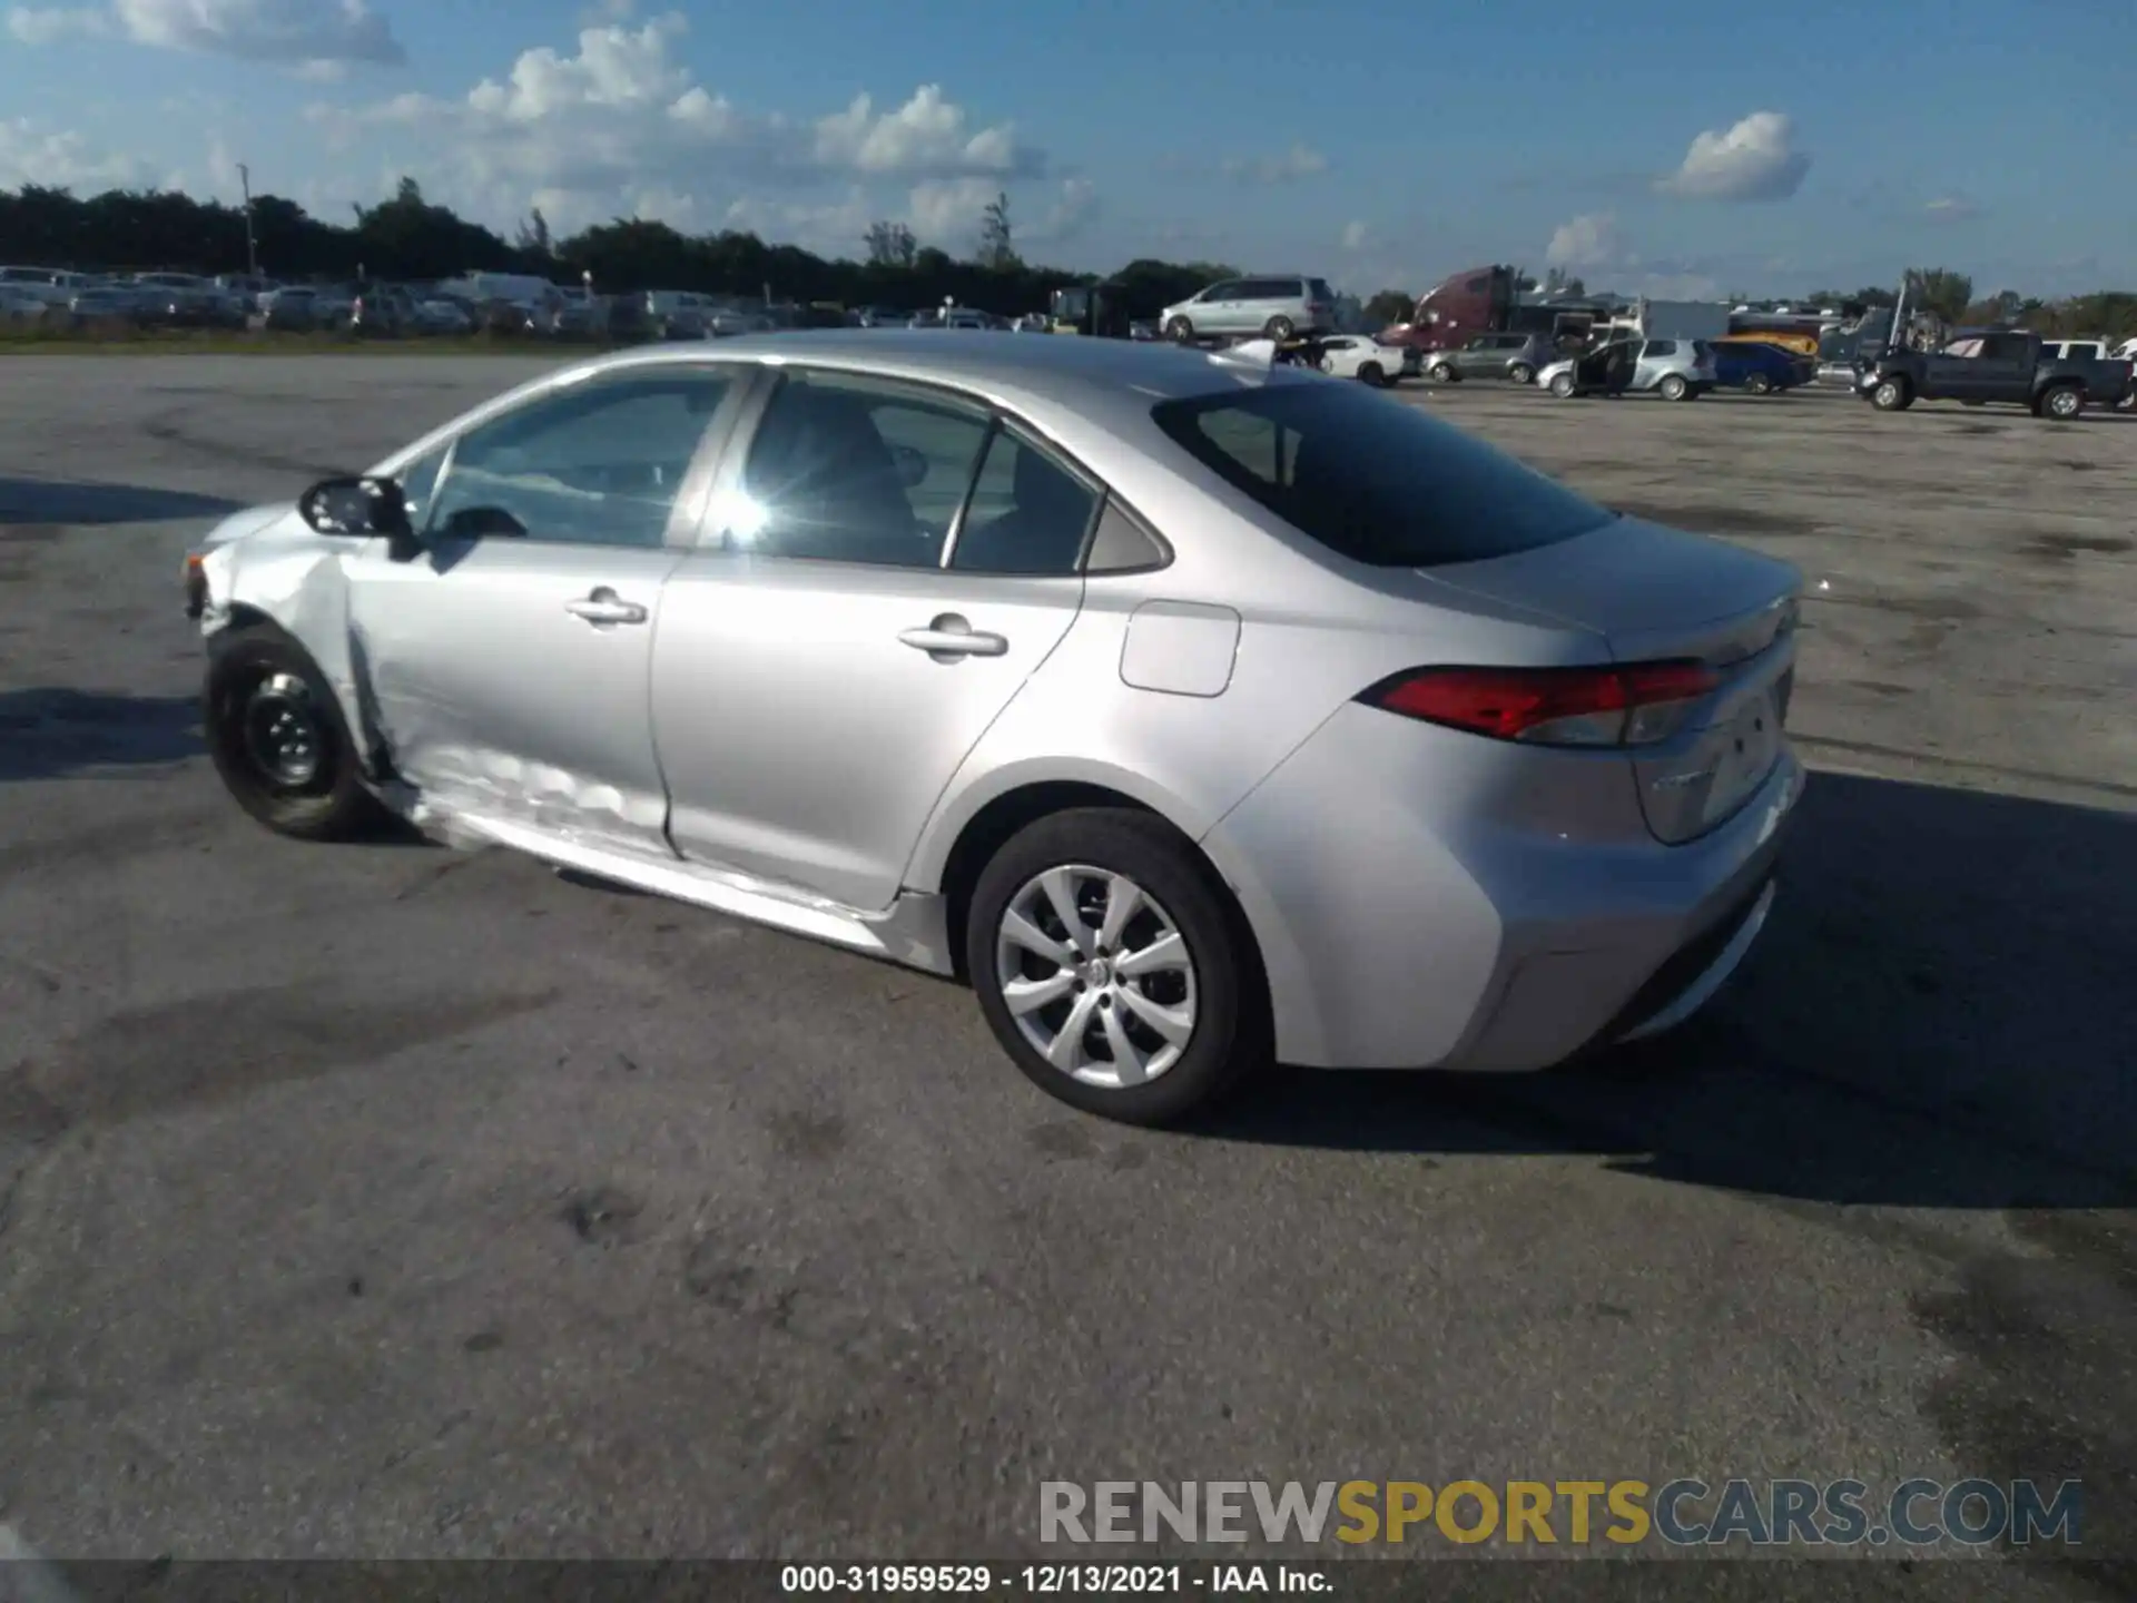
[[[1722,825],[1780,761],[1801,594],[1791,564],[1616,517],[1558,545],[1432,569],[1430,577],[1588,628],[1620,663],[1693,658],[1720,673],[1718,688],[1669,740],[1628,748],[1658,840],[1695,840]]]

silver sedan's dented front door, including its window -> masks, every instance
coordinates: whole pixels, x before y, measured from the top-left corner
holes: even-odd
[[[357,692],[395,774],[451,812],[673,855],[652,643],[686,554],[677,507],[748,372],[568,383],[404,474],[421,549],[374,541],[348,564]]]

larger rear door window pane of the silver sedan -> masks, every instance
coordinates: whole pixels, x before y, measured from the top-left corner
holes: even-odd
[[[789,372],[750,442],[744,492],[767,556],[932,569],[972,485],[977,406],[844,374]]]

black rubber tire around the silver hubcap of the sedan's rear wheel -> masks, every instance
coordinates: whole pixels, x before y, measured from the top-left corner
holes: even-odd
[[[1071,866],[1130,878],[1163,908],[1188,949],[1190,1034],[1171,1067],[1137,1086],[1098,1086],[1056,1069],[1026,1039],[1002,998],[996,945],[1011,902],[1041,874]],[[1083,911],[1079,900],[1079,915]],[[1192,844],[1148,812],[1075,808],[1026,825],[981,870],[964,943],[972,990],[996,1041],[1034,1086],[1086,1114],[1124,1124],[1173,1124],[1214,1107],[1269,1058],[1267,992],[1246,919]],[[1032,962],[1047,964],[1043,958]],[[1062,970],[1056,966],[1054,972]],[[1060,1030],[1064,1020],[1047,1022],[1045,1015],[1054,1009],[1066,1013],[1071,1005],[1073,998],[1049,1002],[1032,1009],[1032,1017],[1039,1028]],[[1094,1024],[1098,1017],[1094,1011]],[[1096,1067],[1103,1069],[1103,1062]]]

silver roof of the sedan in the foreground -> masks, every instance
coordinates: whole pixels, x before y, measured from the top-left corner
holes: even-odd
[[[707,359],[806,361],[885,378],[977,391],[1017,408],[1064,408],[1094,419],[1148,421],[1160,400],[1207,395],[1239,385],[1312,383],[1291,368],[1261,370],[1210,351],[1171,344],[940,329],[799,329],[718,344],[643,346],[596,357],[573,372],[615,372]]]

